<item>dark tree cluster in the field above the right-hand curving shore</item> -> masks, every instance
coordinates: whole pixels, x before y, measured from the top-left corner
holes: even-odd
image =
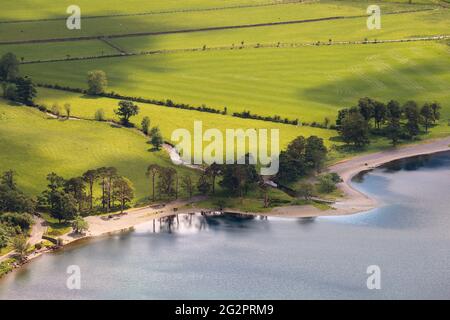
[[[440,119],[441,106],[425,103],[419,107],[415,101],[403,105],[395,100],[387,104],[362,98],[358,105],[339,110],[336,127],[345,143],[362,147],[370,143],[371,135],[385,136],[396,145],[401,139],[411,140]]]

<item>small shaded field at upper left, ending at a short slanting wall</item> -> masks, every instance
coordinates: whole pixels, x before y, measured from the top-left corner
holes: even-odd
[[[99,40],[0,45],[0,55],[13,52],[20,60],[66,59],[117,54],[117,50]]]

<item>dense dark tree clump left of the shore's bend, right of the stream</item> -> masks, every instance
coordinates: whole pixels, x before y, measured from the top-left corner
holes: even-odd
[[[311,172],[320,171],[325,164],[327,152],[322,138],[295,138],[285,151],[280,152],[280,166],[275,180],[293,182]]]

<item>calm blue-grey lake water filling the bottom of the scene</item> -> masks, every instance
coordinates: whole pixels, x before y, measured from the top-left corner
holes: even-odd
[[[179,215],[44,255],[0,299],[449,299],[450,153],[397,161],[354,185],[382,206],[314,220]],[[81,290],[68,290],[78,265]],[[369,290],[367,267],[381,270]]]

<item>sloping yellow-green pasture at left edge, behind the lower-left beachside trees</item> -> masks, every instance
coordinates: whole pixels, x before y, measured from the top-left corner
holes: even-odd
[[[147,166],[172,166],[164,151],[150,152],[150,147],[132,130],[94,121],[50,119],[36,109],[0,101],[0,171],[16,171],[19,186],[29,194],[39,194],[52,171],[69,178],[114,166],[133,182],[136,200],[142,200],[150,190]]]

